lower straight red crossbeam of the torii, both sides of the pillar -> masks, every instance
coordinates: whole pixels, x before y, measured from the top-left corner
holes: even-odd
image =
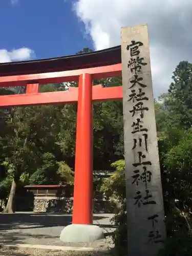
[[[93,101],[122,99],[122,87],[93,86]],[[66,92],[30,93],[0,96],[0,108],[5,106],[56,105],[77,102],[78,88]]]

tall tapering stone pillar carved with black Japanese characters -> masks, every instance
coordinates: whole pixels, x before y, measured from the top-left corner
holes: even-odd
[[[156,256],[165,237],[147,26],[121,29],[129,256]]]

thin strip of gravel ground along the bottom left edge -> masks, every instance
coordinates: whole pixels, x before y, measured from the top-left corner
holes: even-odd
[[[13,250],[0,249],[0,256],[109,256],[109,253],[103,252],[64,252],[64,251],[46,251],[38,249]]]

